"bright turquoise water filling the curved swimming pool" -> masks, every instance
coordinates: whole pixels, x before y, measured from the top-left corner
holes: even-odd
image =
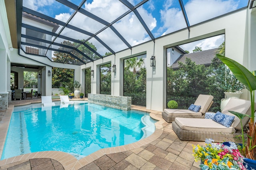
[[[15,107],[1,160],[47,150],[67,152],[80,159],[101,148],[145,138],[154,132],[154,123],[146,113],[89,103]]]

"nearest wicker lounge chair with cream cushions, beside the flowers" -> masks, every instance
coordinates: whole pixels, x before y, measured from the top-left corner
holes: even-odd
[[[247,100],[232,98],[223,109],[222,113],[233,115],[228,111],[251,115],[251,103]],[[249,117],[244,117],[242,125],[246,125],[249,119]],[[236,142],[236,138],[234,137],[241,132],[240,120],[236,116],[230,127],[220,125],[212,119],[177,117],[175,121],[172,122],[172,128],[180,140],[194,141],[204,141],[206,138],[212,138],[215,142]]]

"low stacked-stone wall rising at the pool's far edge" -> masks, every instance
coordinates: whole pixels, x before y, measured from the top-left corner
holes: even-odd
[[[128,111],[131,109],[132,97],[89,93],[88,103]]]

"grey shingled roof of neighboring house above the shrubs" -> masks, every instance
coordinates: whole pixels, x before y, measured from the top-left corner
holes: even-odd
[[[180,57],[171,65],[171,67],[173,69],[180,68],[178,61],[185,63],[186,57],[190,58],[197,65],[199,65],[199,64],[203,64],[206,66],[210,65],[212,62],[212,59],[216,56],[217,50],[218,50],[218,48],[214,48],[214,49],[208,49],[208,50],[204,50],[204,51],[198,51],[198,52],[194,52],[194,53],[180,55]]]

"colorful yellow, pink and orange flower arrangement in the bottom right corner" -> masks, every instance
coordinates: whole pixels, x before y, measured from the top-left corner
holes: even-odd
[[[201,160],[202,170],[246,170],[242,156],[234,142],[230,146],[222,143],[213,143],[214,140],[206,139],[206,146],[199,144],[193,147],[195,161]]]

